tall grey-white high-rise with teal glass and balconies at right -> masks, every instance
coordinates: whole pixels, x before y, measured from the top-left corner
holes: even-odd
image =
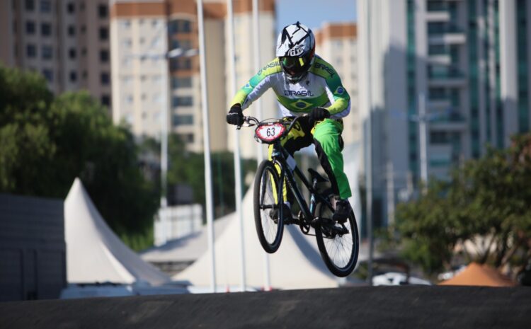
[[[525,0],[358,0],[360,112],[365,124],[372,113],[377,204],[407,195],[422,154],[428,175],[447,179],[487,144],[506,147],[530,130],[530,19]]]

